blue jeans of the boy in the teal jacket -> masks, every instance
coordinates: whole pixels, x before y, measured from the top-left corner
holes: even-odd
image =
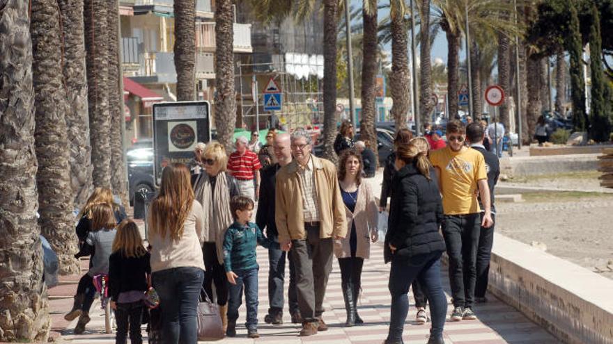
[[[242,290],[245,286],[245,303],[247,304],[247,329],[258,328],[258,269],[233,270],[238,275],[236,284],[229,284],[228,322],[238,319],[238,307],[242,302]]]

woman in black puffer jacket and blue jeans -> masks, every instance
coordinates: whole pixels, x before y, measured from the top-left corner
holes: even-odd
[[[385,343],[403,343],[407,293],[417,279],[430,301],[428,344],[442,344],[447,300],[440,279],[440,256],[445,243],[439,233],[443,213],[435,173],[426,154],[412,144],[396,147],[396,170],[385,236],[385,261],[391,261],[391,319]]]

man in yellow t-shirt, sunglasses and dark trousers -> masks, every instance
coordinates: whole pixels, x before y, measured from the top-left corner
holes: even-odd
[[[476,251],[481,227],[487,229],[493,223],[486,163],[479,151],[464,145],[465,137],[464,125],[451,121],[447,124],[447,147],[430,152],[443,199],[442,232],[449,256],[453,321],[476,319],[472,311]],[[477,190],[485,208],[483,218]]]

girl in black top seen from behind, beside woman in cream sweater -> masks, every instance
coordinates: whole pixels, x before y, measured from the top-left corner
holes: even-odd
[[[143,298],[151,274],[149,260],[138,225],[132,220],[123,220],[117,227],[109,257],[109,295],[117,322],[115,343],[126,343],[128,328],[130,343],[143,343],[141,322],[146,311]]]

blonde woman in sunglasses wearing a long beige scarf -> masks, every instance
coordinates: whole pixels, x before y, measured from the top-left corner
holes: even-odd
[[[227,325],[226,311],[228,310],[228,279],[224,268],[224,232],[234,222],[230,211],[230,199],[238,196],[236,180],[226,173],[228,155],[226,149],[219,142],[210,142],[203,152],[205,173],[200,174],[196,181],[196,199],[205,204],[202,213],[204,256],[204,284],[205,293],[213,300],[212,284],[215,284],[219,313],[224,322],[224,331]]]

